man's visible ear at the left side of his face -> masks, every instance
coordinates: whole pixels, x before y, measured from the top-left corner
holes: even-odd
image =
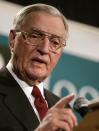
[[[9,47],[10,47],[11,53],[13,53],[14,41],[15,41],[15,31],[10,30],[10,33],[9,33]]]

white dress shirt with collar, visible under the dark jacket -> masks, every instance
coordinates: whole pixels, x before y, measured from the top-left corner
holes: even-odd
[[[37,115],[37,117],[40,121],[38,111],[37,111],[37,109],[35,108],[35,105],[34,105],[34,99],[35,98],[31,95],[32,90],[33,90],[33,86],[28,85],[25,81],[23,81],[23,80],[21,80],[17,77],[17,75],[13,72],[13,65],[12,65],[11,61],[9,61],[9,63],[7,64],[6,67],[7,67],[8,71],[11,73],[11,75],[14,77],[14,79],[17,81],[17,83],[20,85],[20,87],[22,88],[23,92],[27,96],[32,108],[34,109],[34,111],[35,111],[35,113],[36,113],[36,115]],[[39,88],[42,96],[44,97],[43,83],[40,83],[36,86]],[[45,99],[45,97],[44,97],[44,99]]]

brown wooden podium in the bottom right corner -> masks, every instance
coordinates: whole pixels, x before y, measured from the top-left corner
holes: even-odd
[[[73,131],[99,131],[99,101],[88,106],[90,111]]]

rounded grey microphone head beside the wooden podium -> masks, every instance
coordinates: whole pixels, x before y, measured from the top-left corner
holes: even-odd
[[[89,111],[88,108],[88,100],[85,99],[84,97],[79,97],[76,99],[74,102],[73,108],[80,113],[82,117],[84,117],[87,112]]]

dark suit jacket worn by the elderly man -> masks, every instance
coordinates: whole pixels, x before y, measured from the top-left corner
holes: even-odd
[[[60,98],[44,89],[48,108]],[[6,68],[0,70],[0,131],[33,131],[39,120],[26,95]]]

